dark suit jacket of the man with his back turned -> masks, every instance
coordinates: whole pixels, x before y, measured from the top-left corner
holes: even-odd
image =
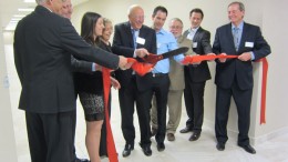
[[[19,109],[58,113],[75,109],[71,54],[116,69],[119,57],[88,44],[70,20],[42,6],[19,21],[14,63],[22,85]]]

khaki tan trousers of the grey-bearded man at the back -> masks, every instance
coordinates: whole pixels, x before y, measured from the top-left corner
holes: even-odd
[[[183,90],[169,90],[168,92],[168,123],[166,126],[166,133],[173,133],[175,134],[179,121],[181,121],[181,114],[182,114],[182,97],[183,97]],[[151,109],[151,125],[154,129],[158,129],[157,123],[157,104],[156,104],[156,98],[153,95],[152,100],[152,109]]]

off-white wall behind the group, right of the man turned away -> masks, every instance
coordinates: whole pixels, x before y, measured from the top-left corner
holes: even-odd
[[[268,57],[269,71],[267,84],[267,124],[259,124],[260,115],[260,92],[261,92],[261,63],[254,64],[255,88],[251,104],[251,124],[249,135],[253,143],[258,143],[264,140],[279,135],[282,132],[288,132],[288,123],[285,115],[288,113],[285,104],[285,92],[287,91],[286,75],[277,73],[281,71],[285,61],[288,60],[287,54],[284,53],[285,42],[287,37],[284,37],[281,28],[287,27],[288,11],[285,9],[286,0],[241,0],[246,7],[245,21],[257,24],[261,28],[263,34],[271,45],[272,54]],[[178,17],[184,21],[184,29],[189,27],[188,14],[193,8],[202,8],[204,11],[204,20],[202,27],[212,32],[212,42],[214,40],[215,30],[217,27],[227,23],[227,6],[232,0],[154,0],[147,2],[146,0],[90,0],[82,3],[74,9],[72,22],[80,31],[81,18],[86,11],[95,11],[113,21],[119,23],[127,21],[126,10],[128,6],[137,3],[141,4],[145,11],[145,24],[151,26],[151,14],[153,9],[161,4],[167,8],[167,20]],[[277,21],[279,20],[279,21]],[[284,21],[286,20],[286,21]],[[167,21],[166,21],[167,22]],[[271,23],[272,22],[272,23]],[[167,23],[164,27],[167,29]],[[277,37],[276,37],[277,36]],[[287,31],[286,31],[286,36]],[[282,54],[281,57],[278,57]],[[215,63],[209,63],[212,74],[215,74]],[[215,120],[215,84],[214,78],[207,82],[205,92],[205,124],[214,129]],[[186,119],[182,119],[186,120]],[[232,138],[237,138],[237,112],[235,103],[232,103],[229,112],[228,130]]]

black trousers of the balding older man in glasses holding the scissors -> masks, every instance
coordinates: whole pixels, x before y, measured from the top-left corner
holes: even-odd
[[[150,91],[140,92],[136,85],[135,77],[132,78],[131,84],[126,88],[121,88],[119,91],[119,101],[121,108],[121,128],[126,144],[134,145],[135,128],[133,124],[134,103],[138,114],[138,123],[141,131],[141,146],[151,145],[151,129],[150,129],[150,108],[152,97]]]

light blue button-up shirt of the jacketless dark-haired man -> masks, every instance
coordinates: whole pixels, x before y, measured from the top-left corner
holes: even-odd
[[[156,32],[157,40],[157,54],[162,54],[178,48],[177,41],[175,37],[164,29],[161,29]],[[173,59],[181,63],[184,60],[184,55],[181,53],[178,55],[173,57]],[[168,73],[169,72],[169,60],[164,59],[156,63],[154,67],[153,73]]]

